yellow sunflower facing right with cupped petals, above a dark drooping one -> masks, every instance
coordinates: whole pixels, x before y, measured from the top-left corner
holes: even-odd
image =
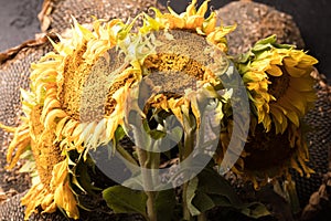
[[[267,131],[274,123],[276,134],[282,134],[289,122],[299,127],[316,99],[310,73],[318,61],[291,45],[277,44],[271,35],[258,41],[237,62],[258,123]]]

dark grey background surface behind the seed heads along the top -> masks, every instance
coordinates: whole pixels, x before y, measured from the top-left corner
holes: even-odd
[[[167,6],[168,0],[159,0]],[[191,0],[172,0],[170,6],[181,12]],[[203,0],[199,0],[202,2]],[[309,54],[320,63],[318,69],[331,80],[331,1],[330,0],[256,0],[291,14],[306,42]],[[212,0],[214,9],[231,0]],[[40,32],[38,12],[42,0],[0,0],[0,52],[15,46]]]

